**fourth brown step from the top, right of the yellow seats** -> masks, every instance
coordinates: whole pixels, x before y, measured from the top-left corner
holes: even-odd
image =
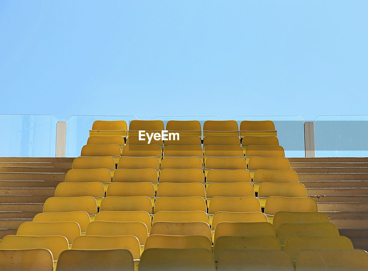
[[[298,173],[299,181],[367,181],[368,173]]]

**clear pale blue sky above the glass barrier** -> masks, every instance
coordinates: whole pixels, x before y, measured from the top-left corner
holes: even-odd
[[[0,1],[0,113],[367,114],[368,1]]]

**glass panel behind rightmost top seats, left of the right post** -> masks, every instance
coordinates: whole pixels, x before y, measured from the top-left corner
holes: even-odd
[[[286,157],[305,157],[304,120],[299,116],[237,116],[234,118],[240,123],[243,120],[264,121],[275,123],[279,144],[285,150]]]

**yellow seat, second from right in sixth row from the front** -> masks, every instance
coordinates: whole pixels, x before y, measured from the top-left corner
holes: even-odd
[[[208,183],[206,185],[207,204],[213,197],[254,197],[254,188],[250,182]]]

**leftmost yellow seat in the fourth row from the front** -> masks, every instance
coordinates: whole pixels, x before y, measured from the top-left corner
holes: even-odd
[[[91,222],[88,213],[84,211],[65,212],[65,213],[39,213],[32,220],[33,222],[77,222],[81,232],[86,232],[88,224]]]

